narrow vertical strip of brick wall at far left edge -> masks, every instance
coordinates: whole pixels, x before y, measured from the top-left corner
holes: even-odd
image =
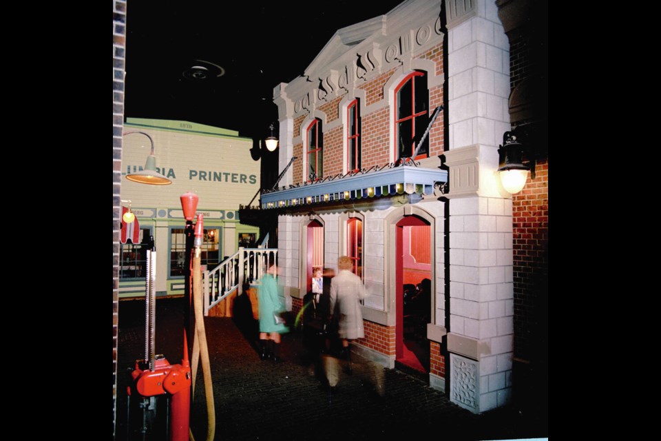
[[[112,436],[117,413],[117,324],[119,310],[120,185],[124,125],[124,47],[126,1],[112,5]]]

